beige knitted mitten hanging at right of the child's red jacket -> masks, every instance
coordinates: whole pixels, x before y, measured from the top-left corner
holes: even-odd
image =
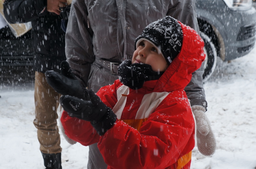
[[[205,115],[203,106],[194,105],[191,107],[196,119],[196,139],[198,151],[210,156],[214,154],[216,149],[216,140],[212,132],[210,121]]]

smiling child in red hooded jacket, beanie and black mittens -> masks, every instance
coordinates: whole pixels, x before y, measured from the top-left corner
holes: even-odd
[[[62,74],[73,78],[69,85],[78,86],[76,97],[60,98],[65,134],[86,146],[98,143],[109,169],[190,168],[195,122],[184,88],[204,61],[203,47],[200,36],[174,18],[153,22],[136,39],[132,60],[120,65],[119,80],[97,95],[79,87],[62,63]],[[47,76],[61,92],[58,77]]]

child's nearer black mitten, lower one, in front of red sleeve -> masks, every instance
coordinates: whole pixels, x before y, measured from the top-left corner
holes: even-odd
[[[71,117],[77,117],[91,122],[101,136],[116,122],[116,115],[107,107],[92,90],[88,90],[90,100],[65,95],[60,97],[60,103]]]

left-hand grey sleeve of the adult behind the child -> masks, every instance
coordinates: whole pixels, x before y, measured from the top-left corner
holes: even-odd
[[[91,64],[95,60],[92,46],[93,32],[88,28],[88,12],[83,0],[73,0],[66,31],[66,57],[72,72],[87,87]]]

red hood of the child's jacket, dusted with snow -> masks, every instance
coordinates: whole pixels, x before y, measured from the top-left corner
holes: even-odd
[[[178,22],[183,31],[181,51],[157,81],[155,92],[184,90],[205,59],[204,41],[194,29]]]

